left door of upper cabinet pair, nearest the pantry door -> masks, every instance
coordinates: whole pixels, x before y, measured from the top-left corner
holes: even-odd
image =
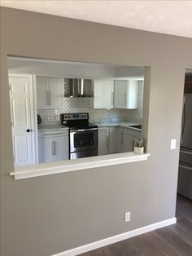
[[[36,77],[37,108],[46,109],[50,104],[50,95],[46,77]]]

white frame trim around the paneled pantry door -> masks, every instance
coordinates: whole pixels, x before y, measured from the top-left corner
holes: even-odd
[[[29,106],[30,106],[30,122],[32,133],[32,164],[38,163],[38,152],[37,152],[37,96],[36,96],[36,86],[34,84],[35,79],[32,74],[24,73],[8,73],[8,77],[27,77],[29,82]],[[9,94],[10,97],[10,94]],[[11,97],[10,97],[11,99]],[[11,106],[11,100],[10,100]],[[12,125],[11,125],[12,126]],[[13,147],[13,143],[12,143]]]

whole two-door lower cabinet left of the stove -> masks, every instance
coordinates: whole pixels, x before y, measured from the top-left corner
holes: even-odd
[[[46,163],[68,159],[68,130],[38,133],[38,161]]]

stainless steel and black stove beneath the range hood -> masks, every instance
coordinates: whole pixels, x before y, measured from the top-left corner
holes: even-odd
[[[69,159],[98,156],[98,126],[89,123],[89,113],[63,113],[69,127]]]

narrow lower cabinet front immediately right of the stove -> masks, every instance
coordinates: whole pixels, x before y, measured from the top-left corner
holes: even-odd
[[[98,156],[107,155],[109,152],[109,133],[108,128],[98,130]]]

